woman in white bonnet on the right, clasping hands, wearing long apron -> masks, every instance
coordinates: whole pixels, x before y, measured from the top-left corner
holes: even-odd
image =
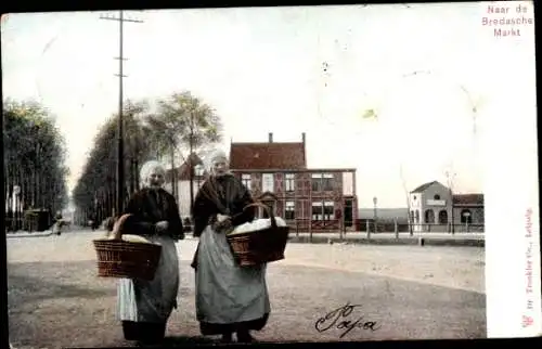
[[[194,236],[199,244],[192,267],[196,276],[196,316],[203,335],[222,335],[231,341],[250,342],[251,329],[267,324],[270,303],[266,267],[241,268],[234,261],[225,234],[255,218],[253,197],[241,180],[229,171],[222,151],[207,161],[209,177],[193,206]]]

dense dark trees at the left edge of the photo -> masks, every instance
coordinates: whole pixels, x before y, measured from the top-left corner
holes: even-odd
[[[7,219],[21,228],[24,210],[61,210],[68,202],[65,141],[54,117],[34,101],[3,101]]]

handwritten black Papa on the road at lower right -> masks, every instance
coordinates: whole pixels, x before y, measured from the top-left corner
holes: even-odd
[[[362,328],[371,331],[377,331],[378,328],[380,328],[380,326],[377,326],[377,323],[375,321],[364,321],[363,315],[357,318],[356,321],[351,319],[353,315],[349,318],[352,314],[353,309],[357,307],[361,307],[361,305],[350,305],[350,302],[347,302],[346,306],[332,310],[326,315],[318,319],[317,323],[314,324],[314,327],[317,328],[318,332],[324,332],[332,327],[338,329],[343,328],[346,329],[339,336],[339,338],[346,336],[353,328]]]

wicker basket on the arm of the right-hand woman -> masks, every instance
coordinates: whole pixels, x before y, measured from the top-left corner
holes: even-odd
[[[233,257],[241,267],[258,266],[284,259],[284,249],[288,241],[288,227],[278,227],[276,220],[267,205],[254,203],[245,209],[259,206],[262,207],[271,219],[271,227],[227,235]]]

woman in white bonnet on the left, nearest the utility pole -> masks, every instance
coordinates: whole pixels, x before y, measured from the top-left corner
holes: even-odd
[[[134,193],[125,214],[125,231],[162,245],[162,256],[152,281],[121,279],[118,284],[118,313],[125,339],[160,341],[179,292],[179,259],[176,241],[184,238],[175,197],[162,189],[164,167],[155,160],[141,168],[142,189]]]

